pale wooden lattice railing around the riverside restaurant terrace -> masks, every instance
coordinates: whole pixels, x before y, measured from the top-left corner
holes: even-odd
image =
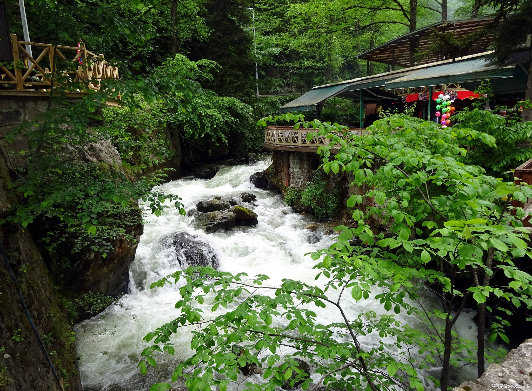
[[[344,134],[356,133],[362,135],[365,128],[348,128]],[[308,140],[307,134],[313,133]],[[318,130],[294,129],[294,126],[268,126],[264,129],[264,142],[271,145],[294,146],[294,147],[320,147],[329,145],[330,138],[319,136]]]

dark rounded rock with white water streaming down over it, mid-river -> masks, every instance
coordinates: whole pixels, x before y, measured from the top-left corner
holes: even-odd
[[[176,257],[182,268],[189,266],[218,267],[218,256],[212,247],[197,236],[178,232],[170,238],[165,247],[176,249]]]

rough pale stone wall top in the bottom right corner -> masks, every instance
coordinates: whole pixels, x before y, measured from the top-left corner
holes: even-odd
[[[493,391],[532,388],[532,339],[511,350],[500,364],[491,364],[476,381],[465,381],[453,391]]]

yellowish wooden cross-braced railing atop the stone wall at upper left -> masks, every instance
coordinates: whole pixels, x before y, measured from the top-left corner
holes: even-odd
[[[103,54],[89,52],[84,43],[80,47],[38,44],[19,41],[15,34],[11,34],[11,44],[14,66],[12,69],[0,66],[0,91],[2,84],[5,87],[14,86],[15,91],[49,91],[52,79],[58,76],[61,77],[62,84],[84,82],[85,88],[99,91],[102,79],[118,79],[118,67],[109,65]],[[40,50],[36,58],[26,51],[25,45],[31,45],[32,52],[34,48],[35,52]],[[73,58],[71,50],[76,53]],[[81,64],[77,68],[73,67],[72,63],[79,63],[80,58]],[[71,92],[84,91],[80,91],[78,87]]]

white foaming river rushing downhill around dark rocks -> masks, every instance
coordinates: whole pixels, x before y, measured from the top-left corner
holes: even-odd
[[[164,191],[179,194],[186,210],[199,201],[213,197],[238,199],[240,192],[251,192],[256,195],[257,206],[243,206],[250,207],[259,215],[259,224],[205,234],[194,229],[193,217],[180,216],[173,207],[166,209],[160,217],[147,216],[149,224],[144,226],[135,261],[130,266],[131,292],[123,296],[120,307],[113,305],[76,326],[84,391],[147,390],[153,383],[168,380],[174,365],[191,353],[189,334],[182,330],[172,341],[176,347],[174,356],[161,354],[157,367],[150,367],[147,376],[140,375],[137,369],[140,352],[151,345],[143,342],[142,338],[180,313],[180,310],[174,309],[174,304],[180,299],[174,285],[149,289],[152,282],[179,269],[174,251],[164,246],[173,233],[188,232],[209,243],[218,254],[219,270],[231,273],[245,271],[250,276],[266,274],[270,277],[271,286],[280,284],[283,278],[314,283],[317,272],[312,266],[315,262],[304,254],[328,247],[333,236],[305,230],[304,226],[312,222],[311,216],[293,213],[279,194],[257,189],[249,182],[251,174],[262,171],[269,164],[270,157],[267,156],[250,166],[224,166],[211,180],[177,180],[160,186]],[[324,284],[325,279],[322,277],[316,283]],[[351,295],[346,295],[343,305],[347,315],[353,318],[368,310],[384,312],[383,305],[371,298],[355,303]],[[314,310],[321,324],[340,320],[330,309]],[[210,306],[205,304],[204,311],[210,312]],[[473,315],[472,312],[463,313],[455,326],[461,337],[471,340],[475,340],[477,334]],[[412,326],[418,325],[416,319],[403,313],[399,318]],[[363,347],[375,346],[379,339],[378,335],[364,337]],[[431,375],[437,376],[438,368],[431,372]],[[475,373],[476,367],[467,366],[454,376],[454,381],[474,379]],[[427,375],[428,372],[420,374]],[[428,381],[425,381],[425,386],[434,389]]]

